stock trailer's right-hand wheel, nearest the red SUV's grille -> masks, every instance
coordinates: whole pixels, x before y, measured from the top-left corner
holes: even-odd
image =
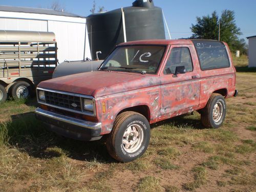
[[[28,98],[31,95],[31,85],[26,81],[17,81],[12,86],[13,98]]]

